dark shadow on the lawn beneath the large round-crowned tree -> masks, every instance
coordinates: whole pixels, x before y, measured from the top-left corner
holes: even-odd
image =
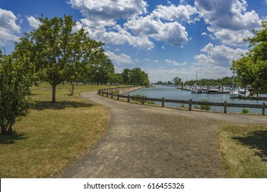
[[[34,110],[46,110],[46,109],[53,109],[53,110],[63,110],[65,108],[88,108],[92,107],[92,104],[86,104],[76,101],[57,101],[53,104],[51,101],[36,101],[34,106]]]

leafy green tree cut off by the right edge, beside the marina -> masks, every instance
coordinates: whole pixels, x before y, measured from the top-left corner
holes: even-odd
[[[253,93],[267,91],[267,21],[262,21],[262,29],[253,29],[253,38],[245,38],[252,47],[246,56],[232,62],[233,70],[242,86],[252,86]]]

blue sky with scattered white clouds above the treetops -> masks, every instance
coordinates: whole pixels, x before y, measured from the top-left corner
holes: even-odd
[[[117,73],[140,67],[151,82],[231,76],[242,41],[267,19],[267,0],[0,0],[0,47],[10,52],[37,16],[73,15],[105,43]]]

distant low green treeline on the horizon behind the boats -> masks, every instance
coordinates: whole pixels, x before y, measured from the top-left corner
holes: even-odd
[[[220,85],[231,86],[233,84],[233,77],[223,77],[221,79],[218,78],[216,80],[214,80],[214,79],[189,80],[186,82],[182,82],[181,78],[175,77],[172,81],[168,81],[168,82],[158,81],[158,82],[155,82],[154,84],[176,85],[176,86],[181,86],[181,85],[193,86],[194,84],[211,85],[211,86],[220,86]]]

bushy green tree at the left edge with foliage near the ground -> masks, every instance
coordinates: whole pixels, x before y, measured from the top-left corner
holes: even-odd
[[[29,113],[34,104],[30,99],[34,68],[28,58],[14,59],[0,51],[0,127],[2,134],[10,134],[16,121]]]

